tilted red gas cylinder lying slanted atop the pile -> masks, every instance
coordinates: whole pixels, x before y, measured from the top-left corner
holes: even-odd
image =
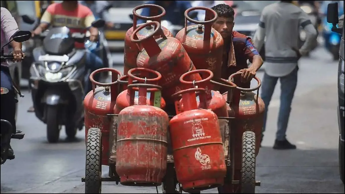
[[[135,35],[146,26],[154,25],[155,31],[145,38],[137,39]],[[160,33],[162,38],[154,39],[153,35]],[[140,52],[137,59],[137,66],[160,72],[162,79],[159,80],[162,86],[162,96],[167,104],[173,104],[171,95],[181,90],[179,78],[185,72],[195,70],[193,62],[180,41],[173,37],[163,35],[159,22],[149,22],[137,28],[131,41],[140,43],[144,50]],[[200,75],[194,74],[193,80],[201,80]]]

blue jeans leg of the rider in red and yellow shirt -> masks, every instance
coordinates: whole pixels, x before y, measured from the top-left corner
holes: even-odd
[[[84,90],[85,90],[85,95],[86,95],[87,93],[89,93],[89,91],[92,90],[92,83],[90,81],[89,76],[90,76],[92,71],[95,71],[95,70],[103,67],[103,61],[97,54],[92,53],[92,52],[87,50],[87,52],[86,52],[86,64],[85,65],[86,65],[85,67],[86,67],[87,73],[85,75]],[[100,74],[98,74],[98,75],[96,74],[95,80],[99,81],[98,80],[99,77],[100,77]]]

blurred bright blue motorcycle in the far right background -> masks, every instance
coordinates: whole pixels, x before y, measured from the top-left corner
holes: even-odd
[[[327,22],[327,18],[324,17],[323,20],[323,31],[322,36],[324,38],[324,44],[326,49],[332,54],[333,60],[339,59],[339,47],[341,41],[341,34],[332,31],[332,23]]]

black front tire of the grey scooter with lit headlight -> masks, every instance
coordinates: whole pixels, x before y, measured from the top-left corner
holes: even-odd
[[[57,143],[60,136],[58,123],[58,106],[47,106],[47,139],[49,143]]]

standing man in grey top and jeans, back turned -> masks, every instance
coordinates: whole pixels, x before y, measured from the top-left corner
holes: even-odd
[[[304,28],[307,34],[301,48],[298,48],[299,27]],[[296,146],[287,140],[286,129],[297,86],[298,60],[311,50],[317,32],[307,13],[294,5],[293,1],[279,1],[269,4],[262,11],[259,27],[253,39],[257,50],[262,48],[265,38],[265,74],[260,88],[261,98],[265,103],[263,132],[266,127],[268,105],[280,79],[280,107],[273,148],[296,149]]]

